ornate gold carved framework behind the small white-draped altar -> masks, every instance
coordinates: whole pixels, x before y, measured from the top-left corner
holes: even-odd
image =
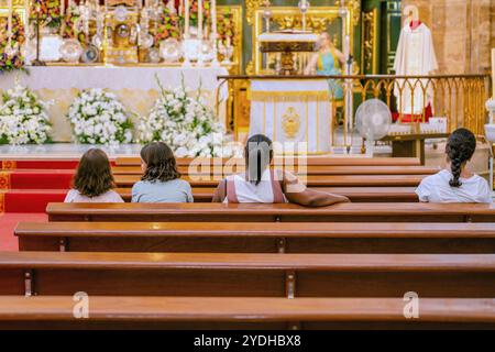
[[[250,1],[248,2],[250,3]],[[252,8],[248,9],[246,20],[248,23],[253,24],[253,54],[252,61],[246,66],[246,73],[252,75],[273,74],[273,69],[268,67],[270,63],[273,63],[274,55],[268,55],[264,58],[258,36],[264,32],[264,19],[263,8],[261,1],[252,1]],[[351,2],[346,2],[346,18],[345,28],[350,35],[350,47],[354,46],[354,28],[359,24],[361,13],[359,13],[358,20],[355,16],[356,7]],[[256,4],[256,6],[255,6]],[[255,7],[254,7],[255,6]],[[252,9],[252,10],[250,10]],[[274,30],[300,30],[302,23],[302,15],[297,7],[271,7],[272,11],[272,25],[275,25]],[[340,1],[339,4],[332,7],[310,7],[307,13],[307,30],[315,33],[322,33],[327,31],[328,26],[334,21],[341,21],[340,16]],[[251,14],[251,15],[250,15]],[[356,22],[358,21],[358,22]],[[334,33],[331,33],[334,34]],[[333,36],[333,35],[332,35]],[[340,36],[340,35],[339,35]],[[308,54],[302,54],[299,57],[301,66],[309,59]]]

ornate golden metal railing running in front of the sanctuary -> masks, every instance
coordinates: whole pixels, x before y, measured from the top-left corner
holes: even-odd
[[[343,124],[351,125],[359,105],[367,99],[377,98],[396,112],[397,123],[411,124],[411,133],[419,133],[419,124],[426,122],[426,107],[430,103],[435,117],[447,118],[447,132],[464,127],[477,135],[484,134],[487,112],[485,102],[490,95],[491,78],[488,75],[437,75],[437,76],[393,76],[393,75],[353,75],[353,76],[221,76],[221,85],[230,82],[232,87],[230,125],[234,132],[246,130],[250,108],[246,100],[251,80],[258,79],[328,79],[341,86],[344,97],[336,101],[343,107]],[[352,95],[349,90],[352,89]],[[330,88],[331,90],[331,88]],[[330,91],[334,97],[336,92]],[[346,102],[352,102],[352,109]],[[243,116],[248,114],[248,116]],[[408,119],[405,116],[408,114]],[[336,119],[334,119],[336,120]],[[405,121],[411,122],[405,122]],[[239,125],[244,121],[244,125]]]

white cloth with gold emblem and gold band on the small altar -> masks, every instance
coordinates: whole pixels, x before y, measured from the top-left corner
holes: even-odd
[[[253,80],[250,91],[250,136],[265,134],[274,142],[307,143],[308,154],[328,153],[332,144],[332,105],[328,81]]]

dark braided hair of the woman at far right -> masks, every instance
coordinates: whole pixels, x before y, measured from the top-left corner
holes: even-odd
[[[450,161],[452,179],[449,182],[451,187],[462,185],[461,172],[463,165],[471,160],[476,150],[476,138],[473,132],[466,129],[458,129],[452,132],[447,142],[446,154]]]

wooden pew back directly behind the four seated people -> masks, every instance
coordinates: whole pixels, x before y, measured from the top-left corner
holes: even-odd
[[[48,204],[51,221],[495,222],[486,204]]]

